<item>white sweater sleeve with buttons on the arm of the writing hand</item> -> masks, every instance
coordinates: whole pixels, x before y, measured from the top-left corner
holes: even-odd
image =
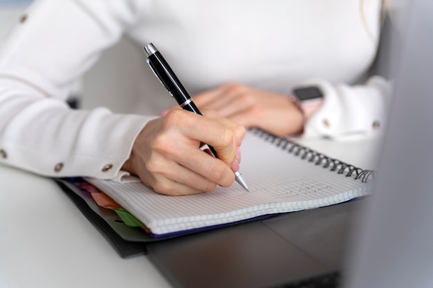
[[[64,100],[136,11],[116,0],[30,6],[0,46],[1,163],[51,177],[118,177],[149,118],[72,110]]]

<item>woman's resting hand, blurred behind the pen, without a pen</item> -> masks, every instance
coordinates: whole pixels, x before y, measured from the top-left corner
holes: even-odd
[[[245,126],[259,127],[278,136],[301,133],[304,119],[288,95],[241,84],[224,84],[194,95],[196,106]]]

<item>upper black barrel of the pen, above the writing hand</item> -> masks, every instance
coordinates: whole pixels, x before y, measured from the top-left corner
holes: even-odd
[[[169,66],[167,61],[165,61],[164,57],[160,55],[159,51],[156,51],[154,54],[147,57],[147,63],[154,71],[156,77],[160,79],[161,83],[165,86],[169,94],[176,99],[176,102],[178,102],[179,105],[182,105],[188,99],[191,99],[190,94],[187,93],[187,90],[185,87],[183,87],[178,77],[176,77],[176,74],[174,74],[172,68]],[[198,109],[196,109],[196,111],[198,111]]]

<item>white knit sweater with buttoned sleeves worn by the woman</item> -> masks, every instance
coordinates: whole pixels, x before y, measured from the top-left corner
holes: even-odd
[[[381,77],[361,79],[376,55],[380,2],[35,1],[0,46],[0,162],[49,176],[124,175],[150,117],[113,114],[104,99],[91,111],[64,103],[124,34],[156,44],[190,93],[227,81],[282,93],[316,84],[325,101],[306,135],[375,135],[389,87]]]

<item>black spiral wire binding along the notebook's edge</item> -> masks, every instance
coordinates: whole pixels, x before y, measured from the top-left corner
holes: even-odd
[[[266,142],[275,144],[275,146],[282,148],[282,150],[288,151],[288,153],[292,153],[295,156],[299,156],[301,159],[312,162],[317,166],[322,166],[324,169],[336,171],[338,174],[345,174],[346,177],[353,177],[356,180],[361,180],[363,183],[367,183],[369,177],[373,178],[373,180],[376,177],[376,171],[360,169],[338,159],[328,157],[323,153],[296,143],[289,138],[278,137],[260,128],[251,128],[250,130],[255,133],[255,135],[263,138]]]

